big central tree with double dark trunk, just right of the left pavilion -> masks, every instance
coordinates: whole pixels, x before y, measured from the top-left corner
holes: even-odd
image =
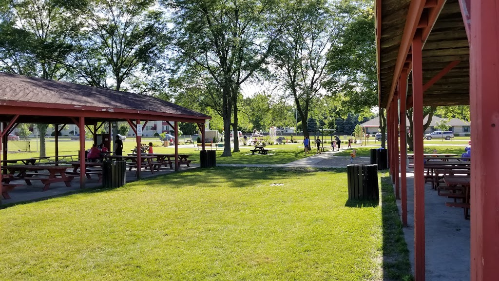
[[[277,0],[162,0],[173,22],[170,50],[179,69],[194,68],[209,81],[212,93],[220,95],[224,120],[225,148],[232,156],[231,125],[238,135],[240,87],[275,46],[283,28]],[[282,17],[285,18],[285,15]],[[182,63],[183,62],[183,63]],[[216,91],[214,91],[216,89]],[[234,119],[233,119],[233,118]],[[239,142],[234,142],[239,151]]]

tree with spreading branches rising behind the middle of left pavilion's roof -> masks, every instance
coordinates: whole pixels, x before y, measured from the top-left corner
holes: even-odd
[[[87,84],[148,92],[166,47],[166,23],[153,0],[92,0],[80,10],[85,24],[75,39],[75,68]],[[111,78],[112,84],[107,83]],[[124,82],[126,86],[124,87]]]

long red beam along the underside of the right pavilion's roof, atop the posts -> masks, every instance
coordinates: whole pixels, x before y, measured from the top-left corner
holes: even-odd
[[[423,14],[423,10],[426,9],[428,22],[424,28],[421,28],[422,29],[421,47],[423,47],[423,42],[425,42],[426,39],[428,38],[428,35],[430,34],[433,25],[437,21],[438,15],[440,14],[440,11],[442,10],[442,7],[444,6],[445,2],[446,0],[437,0],[436,5],[430,4],[430,7],[425,8],[427,0],[411,1],[409,5],[409,11],[406,17],[406,24],[404,26],[404,33],[402,33],[402,40],[400,42],[399,52],[397,54],[397,61],[395,63],[395,70],[393,73],[390,94],[388,96],[388,103],[387,103],[388,107],[390,106],[393,94],[395,93],[395,88],[397,87],[397,81],[402,72],[402,68],[404,68],[405,66],[405,58],[407,57],[407,54],[409,53],[409,50],[411,48],[412,39],[414,38],[414,34],[416,34],[416,29],[418,29],[418,25],[420,25],[421,23],[420,20]],[[408,69],[412,68],[412,65],[408,66],[409,66]]]

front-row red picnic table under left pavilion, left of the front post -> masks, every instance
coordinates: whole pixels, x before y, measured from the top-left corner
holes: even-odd
[[[5,179],[5,183],[11,180],[24,179],[27,185],[31,185],[31,180],[40,180],[43,184],[43,191],[46,191],[51,183],[64,182],[67,187],[71,186],[72,175],[66,175],[68,166],[53,166],[53,165],[9,165],[6,169],[10,176]],[[47,170],[48,173],[38,171]],[[33,172],[30,172],[33,171]],[[17,172],[17,174],[15,174]],[[37,176],[37,177],[33,177]]]

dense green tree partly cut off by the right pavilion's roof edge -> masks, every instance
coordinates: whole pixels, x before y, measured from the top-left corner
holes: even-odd
[[[347,2],[345,27],[327,54],[330,63],[326,67],[324,87],[336,104],[338,114],[357,112],[360,116],[371,116],[372,109],[378,105],[373,1]],[[382,146],[386,130],[383,111],[383,108],[379,110]]]

